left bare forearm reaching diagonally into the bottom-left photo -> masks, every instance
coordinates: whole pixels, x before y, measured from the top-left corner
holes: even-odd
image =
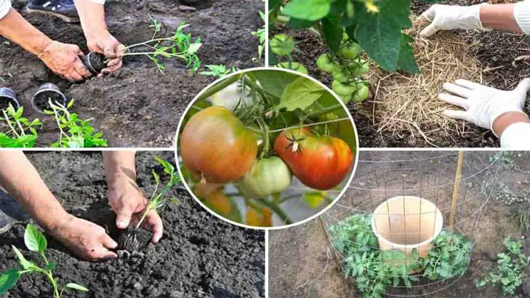
[[[0,185],[48,231],[71,217],[21,151],[0,152]]]

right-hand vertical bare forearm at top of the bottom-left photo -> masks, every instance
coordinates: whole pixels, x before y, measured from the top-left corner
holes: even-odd
[[[134,151],[103,151],[103,167],[109,187],[121,181],[136,183]]]

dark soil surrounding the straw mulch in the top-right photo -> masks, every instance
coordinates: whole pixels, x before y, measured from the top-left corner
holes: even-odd
[[[444,1],[442,4],[470,5],[467,0]],[[412,11],[414,14],[422,14],[432,3],[426,1],[413,0]],[[314,34],[308,31],[294,31],[287,27],[278,27],[271,31],[270,36],[278,33],[287,33],[295,37],[297,48],[302,53],[295,53],[295,61],[303,63],[310,76],[317,78],[331,88],[332,77],[329,73],[323,73],[316,66],[316,60],[320,54],[325,53],[325,48],[319,46],[319,41]],[[530,60],[522,59],[515,61],[519,56],[528,55],[530,48],[530,38],[524,35],[512,34],[502,31],[489,33],[459,31],[470,45],[474,45],[472,51],[477,55],[477,59],[483,68],[489,68],[484,71],[484,83],[487,86],[501,88],[504,90],[512,89],[519,81],[530,75]],[[512,64],[514,63],[514,64]],[[372,119],[374,87],[370,92],[370,97],[362,106],[355,103],[349,103],[348,108],[352,113],[357,132],[359,133],[360,147],[431,147],[421,135],[412,135],[408,131],[403,131],[399,135],[391,132],[377,132]],[[530,104],[526,105],[526,113],[530,114]],[[377,122],[377,119],[376,119]],[[452,135],[447,138],[442,135],[429,135],[435,145],[439,147],[454,148],[479,148],[479,147],[499,147],[499,140],[489,130],[479,128],[469,124],[472,129],[464,135]],[[436,125],[422,125],[423,131],[434,130]]]

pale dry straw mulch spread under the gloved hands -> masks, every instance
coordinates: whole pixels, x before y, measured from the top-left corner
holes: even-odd
[[[409,131],[413,137],[434,145],[433,135],[450,138],[469,130],[463,121],[442,115],[447,108],[458,109],[437,98],[443,91],[442,84],[459,78],[481,83],[481,68],[469,49],[472,45],[457,33],[440,31],[431,38],[422,38],[419,32],[427,21],[419,17],[412,20],[413,28],[406,33],[415,39],[414,55],[422,74],[387,73],[372,67],[369,80],[374,101],[370,112],[379,132],[400,135]]]

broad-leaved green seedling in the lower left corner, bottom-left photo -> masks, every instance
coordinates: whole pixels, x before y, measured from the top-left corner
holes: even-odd
[[[26,257],[22,255],[20,250],[14,246],[11,246],[17,259],[19,260],[20,268],[7,269],[6,272],[0,275],[0,296],[6,294],[6,292],[14,287],[16,282],[19,281],[19,278],[23,274],[27,273],[44,274],[53,287],[53,297],[55,298],[63,297],[63,294],[68,289],[74,289],[79,292],[88,292],[86,287],[74,283],[68,283],[59,290],[58,280],[53,276],[53,270],[56,269],[57,264],[54,262],[49,262],[48,258],[46,257],[45,252],[46,248],[48,247],[48,242],[46,241],[46,237],[44,237],[41,231],[39,231],[34,225],[26,225],[26,231],[24,232],[24,244],[28,250],[39,254],[41,259],[44,261],[44,268],[39,267],[36,262],[27,260]]]

